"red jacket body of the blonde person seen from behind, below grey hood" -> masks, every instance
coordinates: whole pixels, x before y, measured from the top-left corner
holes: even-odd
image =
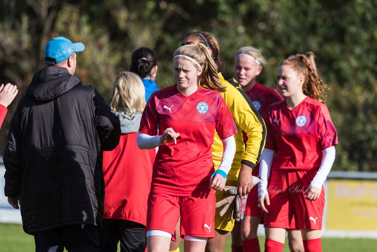
[[[103,152],[103,218],[135,221],[146,226],[156,150],[140,150],[136,146],[137,134],[122,134],[114,150]]]

